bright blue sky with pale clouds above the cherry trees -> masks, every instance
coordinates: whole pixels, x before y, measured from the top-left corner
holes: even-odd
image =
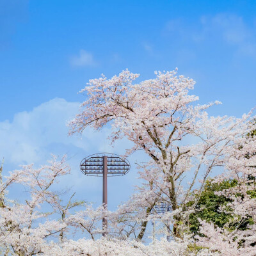
[[[60,186],[100,204],[102,180],[83,176],[81,159],[102,151],[124,154],[131,144],[109,147],[109,127],[68,137],[66,123],[84,100],[77,92],[102,73],[111,77],[129,68],[141,80],[178,67],[196,81],[201,104],[223,102],[211,115],[247,113],[256,106],[255,13],[255,1],[237,0],[0,0],[4,170],[67,154],[72,172]],[[131,172],[109,179],[110,209],[131,195],[138,184],[134,161],[144,157],[134,154]]]

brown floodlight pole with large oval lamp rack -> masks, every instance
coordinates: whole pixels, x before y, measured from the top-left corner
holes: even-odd
[[[84,175],[102,176],[102,204],[108,209],[108,176],[121,176],[130,170],[130,163],[127,159],[112,153],[98,153],[85,157],[80,163],[80,170]],[[102,218],[102,236],[108,233],[108,219]]]

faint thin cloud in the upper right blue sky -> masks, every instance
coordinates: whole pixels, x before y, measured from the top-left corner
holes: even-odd
[[[255,24],[246,23],[243,17],[230,13],[204,15],[193,24],[181,19],[170,20],[164,26],[163,35],[191,44],[216,42],[220,45],[221,42],[231,46],[234,56],[256,58]]]

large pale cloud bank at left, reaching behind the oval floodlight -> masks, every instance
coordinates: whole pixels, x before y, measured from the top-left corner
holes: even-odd
[[[121,140],[115,147],[109,146],[107,138],[111,132],[110,127],[99,132],[89,127],[82,136],[68,136],[67,120],[74,118],[79,105],[79,102],[56,98],[31,111],[16,113],[11,121],[0,122],[0,160],[4,157],[4,171],[9,171],[19,169],[20,164],[34,163],[36,167],[41,166],[51,158],[51,154],[60,157],[67,154],[71,175],[63,179],[56,189],[72,187],[79,200],[100,204],[102,179],[83,175],[79,170],[80,161],[98,152],[124,154],[131,144]],[[134,154],[129,157],[129,161],[134,163],[136,158],[140,161],[143,156]],[[133,164],[131,172],[125,177],[109,178],[109,209],[131,195],[133,185],[139,182],[135,179],[136,173]]]

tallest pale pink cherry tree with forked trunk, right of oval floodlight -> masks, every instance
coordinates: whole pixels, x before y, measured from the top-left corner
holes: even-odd
[[[198,97],[189,94],[195,82],[177,76],[177,70],[156,72],[156,78],[135,83],[138,77],[124,70],[111,79],[90,80],[81,90],[86,101],[70,122],[70,134],[81,133],[88,126],[99,130],[109,123],[113,143],[124,137],[133,142],[126,156],[144,150],[151,159],[139,166],[145,182],[131,201],[120,207],[120,216],[133,212],[138,217],[129,227],[132,234],[131,227],[138,228],[140,223],[138,241],[150,218],[160,218],[172,236],[182,238],[185,220],[196,205],[195,201],[189,211],[182,212],[191,191],[196,188],[200,198],[210,173],[225,168],[228,148],[253,129],[252,113],[242,118],[209,116],[207,109],[220,102],[196,104]],[[183,181],[186,177],[188,184]],[[155,205],[161,202],[172,207],[174,214],[169,212],[169,218],[154,214]]]

